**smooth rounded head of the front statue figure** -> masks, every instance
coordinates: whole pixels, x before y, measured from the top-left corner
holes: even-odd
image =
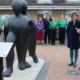
[[[21,9],[22,9],[21,1],[20,0],[13,0],[12,9],[13,9],[15,15],[19,15],[21,13]]]

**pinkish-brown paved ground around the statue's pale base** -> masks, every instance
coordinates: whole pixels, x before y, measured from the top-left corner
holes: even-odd
[[[14,51],[15,59],[17,59],[16,50],[14,49]],[[77,67],[69,67],[69,49],[65,45],[60,46],[58,42],[56,46],[51,46],[48,44],[37,45],[36,53],[39,58],[46,59],[51,62],[45,80],[80,80],[80,75],[67,74],[67,70],[79,71],[78,68],[80,67],[80,56],[78,58]],[[26,57],[30,57],[28,52]],[[4,65],[6,65],[5,59]]]

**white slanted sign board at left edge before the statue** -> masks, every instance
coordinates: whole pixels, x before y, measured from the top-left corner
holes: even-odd
[[[7,57],[12,45],[12,42],[0,42],[0,57]]]

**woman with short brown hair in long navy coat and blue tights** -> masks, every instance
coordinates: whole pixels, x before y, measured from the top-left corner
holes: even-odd
[[[71,62],[68,66],[73,65],[73,67],[77,66],[78,59],[78,49],[79,49],[79,34],[77,30],[80,28],[80,21],[78,21],[78,14],[74,12],[71,15],[72,21],[68,23],[67,27],[67,38],[68,38],[68,48],[70,48],[70,59]],[[74,61],[73,61],[73,51],[75,51]]]

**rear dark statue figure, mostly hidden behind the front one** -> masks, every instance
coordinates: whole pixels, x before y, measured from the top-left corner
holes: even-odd
[[[33,61],[35,63],[38,63],[38,59],[37,59],[37,56],[36,56],[36,37],[37,37],[37,28],[36,28],[36,25],[35,25],[35,22],[34,20],[32,19],[32,17],[26,12],[27,11],[27,2],[26,1],[21,1],[22,2],[22,10],[21,10],[21,13],[25,16],[27,16],[29,19],[31,19],[31,21],[34,23],[34,35],[32,34],[31,38],[30,38],[30,41],[29,41],[29,45],[28,45],[28,50],[29,50],[29,55],[32,56],[33,58]],[[26,56],[26,54],[25,54]],[[24,57],[25,57],[24,56]]]

